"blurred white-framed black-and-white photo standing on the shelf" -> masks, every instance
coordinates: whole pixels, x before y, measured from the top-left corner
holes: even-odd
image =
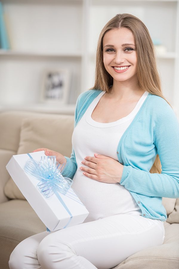
[[[69,71],[67,69],[46,69],[43,72],[41,101],[66,104],[69,95]]]

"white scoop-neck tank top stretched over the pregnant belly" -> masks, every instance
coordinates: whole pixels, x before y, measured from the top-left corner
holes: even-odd
[[[145,92],[134,110],[124,118],[115,122],[100,123],[91,118],[92,112],[98,104],[101,92],[90,104],[72,135],[72,145],[75,151],[77,170],[73,177],[72,189],[84,199],[82,203],[90,212],[84,222],[95,221],[117,214],[141,215],[141,209],[130,194],[120,183],[104,183],[90,179],[83,175],[79,167],[84,166],[81,161],[94,153],[109,156],[118,161],[117,147],[121,136],[140,110],[148,92]]]

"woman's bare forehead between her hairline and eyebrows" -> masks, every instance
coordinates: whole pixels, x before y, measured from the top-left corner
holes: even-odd
[[[109,30],[103,37],[103,46],[107,44],[135,44],[132,31],[124,27]]]

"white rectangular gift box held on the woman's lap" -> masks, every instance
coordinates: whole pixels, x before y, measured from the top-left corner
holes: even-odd
[[[30,153],[30,156],[39,162],[41,156],[46,155],[44,151],[38,151]],[[46,198],[37,186],[40,181],[24,171],[24,166],[29,158],[27,154],[13,155],[6,168],[41,221],[50,231],[56,231],[66,226],[70,227],[82,223],[89,212],[73,190],[70,188],[66,195],[58,192],[63,200],[62,203],[55,194]],[[71,199],[69,194],[75,197],[75,200]]]

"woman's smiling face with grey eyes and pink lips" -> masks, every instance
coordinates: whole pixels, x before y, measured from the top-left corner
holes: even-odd
[[[137,81],[137,54],[134,36],[129,29],[112,29],[104,35],[103,62],[113,82]]]

